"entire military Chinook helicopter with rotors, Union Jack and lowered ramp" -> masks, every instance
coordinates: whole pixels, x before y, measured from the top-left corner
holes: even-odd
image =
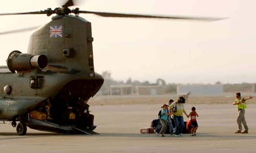
[[[0,67],[0,121],[10,121],[18,135],[25,135],[27,127],[56,133],[97,134],[93,131],[94,115],[90,114],[86,102],[98,92],[104,78],[94,72],[91,24],[79,14],[220,20],[69,9],[73,5],[69,0],[53,10],[0,14],[56,14],[32,33],[27,53],[11,52],[7,65]]]

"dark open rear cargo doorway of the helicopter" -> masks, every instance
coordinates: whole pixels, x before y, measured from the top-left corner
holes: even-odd
[[[72,125],[93,130],[94,115],[90,114],[87,104],[103,80],[74,80],[63,86],[54,97],[49,97],[34,110],[30,117],[47,120],[57,125]]]

